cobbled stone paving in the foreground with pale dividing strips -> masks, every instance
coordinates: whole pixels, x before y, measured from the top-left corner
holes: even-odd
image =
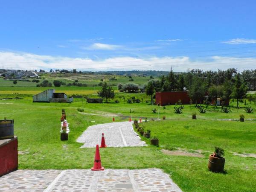
[[[0,192],[181,192],[160,169],[18,170],[0,177]]]

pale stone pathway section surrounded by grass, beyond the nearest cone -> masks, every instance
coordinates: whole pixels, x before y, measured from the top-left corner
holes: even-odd
[[[136,147],[146,146],[145,142],[135,133],[132,122],[113,122],[88,127],[76,140],[84,143],[81,148],[95,147],[100,145],[102,133],[105,136],[107,147]]]

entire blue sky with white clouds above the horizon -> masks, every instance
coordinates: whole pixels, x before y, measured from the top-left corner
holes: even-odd
[[[10,0],[0,68],[256,68],[256,2]]]

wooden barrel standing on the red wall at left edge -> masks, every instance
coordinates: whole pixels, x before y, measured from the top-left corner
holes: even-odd
[[[13,120],[0,120],[0,140],[14,137]]]

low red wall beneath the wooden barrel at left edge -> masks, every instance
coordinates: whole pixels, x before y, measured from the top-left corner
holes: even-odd
[[[0,140],[0,176],[18,168],[18,140]]]

